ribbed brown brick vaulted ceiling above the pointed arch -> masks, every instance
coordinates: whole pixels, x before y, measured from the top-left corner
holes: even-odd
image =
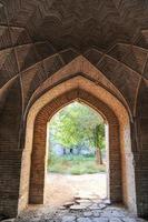
[[[148,82],[148,1],[0,0],[1,97],[19,78],[26,108],[48,78],[79,56],[135,112],[140,82]]]

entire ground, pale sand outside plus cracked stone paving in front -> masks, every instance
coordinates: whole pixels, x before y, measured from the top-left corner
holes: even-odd
[[[48,174],[47,176],[47,204],[29,205],[13,222],[145,222],[129,213],[122,205],[107,203],[106,174]],[[83,199],[73,205],[61,206],[73,200],[73,196],[97,196]],[[89,195],[90,194],[90,195]],[[98,199],[98,195],[100,199]],[[77,198],[78,198],[77,196]],[[77,201],[76,201],[77,200]],[[71,203],[70,203],[71,204]],[[85,204],[85,205],[83,205]],[[77,206],[77,208],[76,208]]]

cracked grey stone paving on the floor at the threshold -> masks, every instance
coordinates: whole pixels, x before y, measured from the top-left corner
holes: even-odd
[[[78,201],[79,200],[79,201]],[[111,205],[97,196],[75,196],[56,210],[49,206],[27,210],[13,221],[3,222],[145,222],[126,211],[121,205]]]

